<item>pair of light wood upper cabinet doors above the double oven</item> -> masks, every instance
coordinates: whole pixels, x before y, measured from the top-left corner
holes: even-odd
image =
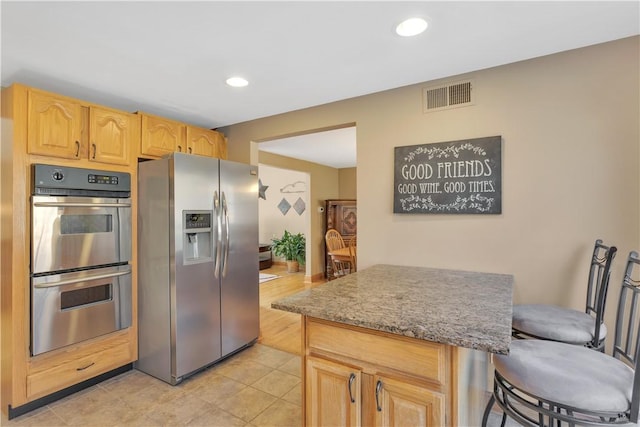
[[[129,165],[140,134],[134,114],[36,89],[28,91],[27,114],[29,154]]]

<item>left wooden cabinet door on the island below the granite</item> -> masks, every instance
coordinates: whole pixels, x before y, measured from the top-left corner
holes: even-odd
[[[306,368],[306,425],[359,426],[361,372],[309,357]]]

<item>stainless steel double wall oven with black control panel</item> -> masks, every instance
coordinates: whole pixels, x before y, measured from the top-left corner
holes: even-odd
[[[36,164],[31,354],[131,326],[131,176]]]

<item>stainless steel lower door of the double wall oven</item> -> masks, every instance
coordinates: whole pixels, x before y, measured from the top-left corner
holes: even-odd
[[[31,279],[31,354],[131,326],[131,266]]]

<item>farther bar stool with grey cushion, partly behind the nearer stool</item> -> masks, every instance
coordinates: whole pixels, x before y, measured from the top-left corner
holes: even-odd
[[[604,351],[607,336],[607,328],[603,323],[604,309],[611,263],[616,251],[615,246],[606,246],[602,240],[596,240],[591,256],[584,311],[546,304],[514,305],[514,338],[559,341]]]

